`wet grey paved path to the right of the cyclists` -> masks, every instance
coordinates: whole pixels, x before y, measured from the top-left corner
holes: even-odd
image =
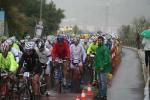
[[[144,79],[138,55],[123,49],[122,62],[108,90],[108,100],[143,100]]]

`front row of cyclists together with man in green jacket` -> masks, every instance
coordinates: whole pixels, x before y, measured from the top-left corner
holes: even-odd
[[[104,43],[101,35],[91,38],[92,42],[80,43],[80,37],[71,40],[64,35],[58,35],[56,40],[34,38],[17,41],[15,37],[7,38],[0,43],[0,68],[16,76],[23,72],[33,73],[32,89],[36,98],[40,96],[39,81],[44,69],[47,95],[55,95],[52,91],[50,76],[54,74],[52,68],[57,66],[59,60],[63,62],[63,85],[73,84],[82,80],[85,63],[90,61],[90,55],[95,55],[92,69],[92,81],[99,84],[99,97],[107,98],[107,74],[111,72],[111,56],[109,47]],[[55,75],[54,75],[55,76]]]

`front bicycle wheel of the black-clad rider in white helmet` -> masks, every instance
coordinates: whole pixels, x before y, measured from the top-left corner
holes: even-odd
[[[19,89],[20,100],[30,100],[31,92],[27,84],[23,84]]]

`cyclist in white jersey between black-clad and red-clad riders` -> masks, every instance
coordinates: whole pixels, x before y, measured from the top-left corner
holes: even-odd
[[[40,40],[37,44],[37,47],[35,48],[38,57],[39,57],[39,61],[40,61],[40,66],[44,66],[45,67],[45,81],[46,81],[46,95],[55,95],[52,91],[50,91],[51,89],[51,84],[50,84],[50,50],[48,48],[45,47],[45,43],[44,41]]]

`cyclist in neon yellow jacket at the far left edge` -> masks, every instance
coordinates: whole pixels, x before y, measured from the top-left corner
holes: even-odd
[[[9,78],[11,79],[11,84],[12,84],[13,89],[14,89],[15,74],[16,74],[17,69],[18,69],[18,64],[15,61],[14,55],[12,54],[12,52],[9,51],[9,49],[10,49],[10,47],[9,47],[8,43],[4,42],[1,44],[0,69],[9,72]],[[5,86],[6,86],[5,83],[1,84],[1,87],[5,87]],[[2,95],[5,95],[3,88],[0,92],[2,93]]]

